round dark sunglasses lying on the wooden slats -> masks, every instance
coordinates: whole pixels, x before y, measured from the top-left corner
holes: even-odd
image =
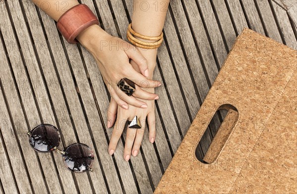
[[[63,156],[66,168],[75,173],[92,171],[94,153],[92,149],[81,143],[75,143],[64,151],[60,151],[57,147],[60,144],[59,130],[50,124],[41,124],[27,133],[29,135],[29,143],[31,147],[39,153],[49,153],[56,151]]]

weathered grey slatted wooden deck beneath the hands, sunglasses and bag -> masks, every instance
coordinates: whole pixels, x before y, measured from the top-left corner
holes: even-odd
[[[132,0],[81,0],[101,27],[124,39]],[[97,64],[68,44],[55,23],[28,0],[0,0],[0,194],[152,193],[244,27],[297,49],[296,0],[171,0],[154,78],[157,137],[123,159],[107,148],[109,96]],[[198,149],[203,157],[224,113]],[[61,130],[62,145],[81,142],[96,153],[94,172],[73,174],[56,153],[37,154],[26,133],[40,123]],[[60,147],[60,148],[61,148]]]

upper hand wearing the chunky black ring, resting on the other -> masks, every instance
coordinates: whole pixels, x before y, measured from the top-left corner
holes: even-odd
[[[93,25],[83,31],[77,39],[96,59],[109,93],[119,106],[128,109],[128,104],[130,104],[139,108],[147,108],[147,103],[138,99],[158,98],[158,95],[145,91],[146,88],[154,88],[160,86],[161,83],[146,78],[149,76],[147,60],[135,46],[123,39],[110,36],[98,25]],[[141,74],[132,67],[130,59],[138,65]],[[118,88],[117,83],[122,78],[128,78],[135,83],[133,96],[128,96]]]

